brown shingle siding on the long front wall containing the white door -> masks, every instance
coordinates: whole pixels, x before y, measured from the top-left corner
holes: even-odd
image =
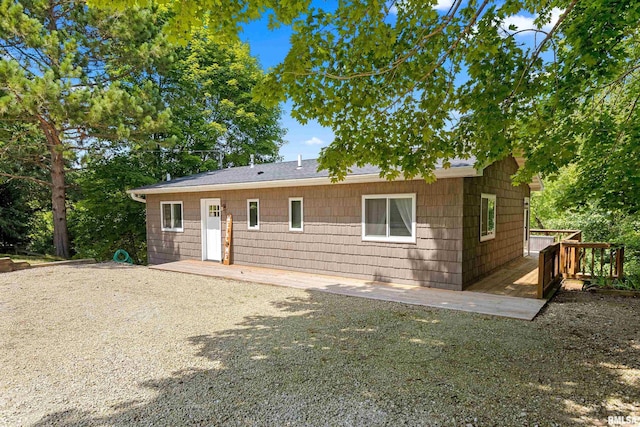
[[[200,199],[233,215],[232,261],[368,280],[462,288],[462,178],[147,196],[149,262],[201,259]],[[416,193],[416,243],[362,241],[362,195]],[[289,197],[304,198],[304,231],[289,231]],[[260,230],[247,230],[247,199]],[[160,229],[160,202],[181,200],[184,232]],[[226,223],[222,224],[222,235]]]

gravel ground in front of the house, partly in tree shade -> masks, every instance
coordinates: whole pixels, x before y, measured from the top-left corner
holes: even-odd
[[[533,322],[97,264],[0,275],[0,424],[606,425],[640,299]]]

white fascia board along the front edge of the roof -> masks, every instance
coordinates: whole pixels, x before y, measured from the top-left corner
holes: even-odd
[[[482,170],[476,170],[473,166],[463,166],[449,169],[437,169],[435,171],[437,179],[445,178],[465,178],[473,176],[482,176]],[[422,179],[422,178],[415,178]],[[404,178],[398,178],[395,181],[404,181]],[[224,191],[224,190],[243,190],[255,188],[283,188],[283,187],[309,187],[317,185],[341,185],[341,184],[362,184],[370,182],[389,182],[385,178],[381,178],[378,174],[367,175],[350,175],[344,180],[331,182],[328,177],[321,178],[305,178],[305,179],[283,179],[278,181],[263,182],[238,182],[230,184],[209,184],[209,185],[191,185],[185,187],[164,187],[149,188],[139,190],[127,190],[129,194],[168,194],[168,193],[200,193],[203,191]]]

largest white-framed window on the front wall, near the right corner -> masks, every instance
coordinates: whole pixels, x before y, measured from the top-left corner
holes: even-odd
[[[362,196],[362,240],[415,243],[416,195]]]

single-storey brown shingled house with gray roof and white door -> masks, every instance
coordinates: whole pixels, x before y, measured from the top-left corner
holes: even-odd
[[[512,185],[513,157],[454,160],[434,183],[387,181],[372,166],[331,183],[317,168],[260,164],[130,190],[146,202],[149,263],[220,261],[231,214],[235,264],[462,290],[523,255],[540,187]]]

